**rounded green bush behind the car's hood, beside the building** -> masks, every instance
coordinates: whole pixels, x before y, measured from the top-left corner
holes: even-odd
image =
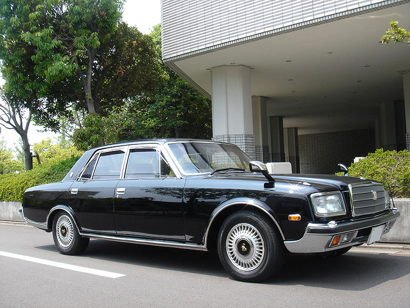
[[[410,197],[410,152],[378,149],[352,164],[349,176],[364,177],[389,187],[392,197]]]

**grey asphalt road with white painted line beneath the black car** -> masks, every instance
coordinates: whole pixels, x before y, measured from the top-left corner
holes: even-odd
[[[0,223],[0,306],[407,308],[410,250],[370,247],[290,254],[276,277],[243,283],[208,253],[91,240],[64,256],[51,234]]]

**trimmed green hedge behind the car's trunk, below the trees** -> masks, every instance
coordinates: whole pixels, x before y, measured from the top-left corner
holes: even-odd
[[[0,200],[22,202],[24,191],[35,185],[63,180],[79,157],[41,164],[29,171],[0,176]]]

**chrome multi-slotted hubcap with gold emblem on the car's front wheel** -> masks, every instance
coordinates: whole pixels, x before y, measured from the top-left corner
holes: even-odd
[[[237,224],[230,230],[226,247],[229,260],[241,271],[252,271],[263,260],[263,239],[258,230],[248,223]]]

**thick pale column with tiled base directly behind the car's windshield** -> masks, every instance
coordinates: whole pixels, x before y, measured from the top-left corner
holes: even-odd
[[[212,130],[213,140],[234,143],[255,159],[249,67],[212,68]]]

